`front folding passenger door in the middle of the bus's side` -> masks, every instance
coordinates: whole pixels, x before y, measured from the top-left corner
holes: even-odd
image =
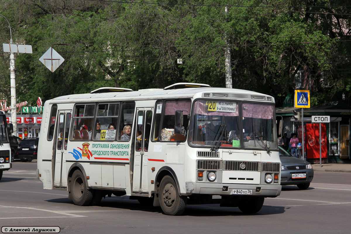
[[[148,194],[147,158],[153,108],[137,108],[133,163],[133,193]]]

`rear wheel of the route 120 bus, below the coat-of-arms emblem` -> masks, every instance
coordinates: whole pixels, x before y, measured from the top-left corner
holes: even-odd
[[[78,206],[87,206],[93,199],[93,193],[86,184],[83,174],[75,170],[69,184],[73,203]]]

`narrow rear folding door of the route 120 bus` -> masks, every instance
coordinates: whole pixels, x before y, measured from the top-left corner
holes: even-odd
[[[71,111],[59,111],[56,134],[56,149],[54,159],[54,187],[67,187],[66,159]]]

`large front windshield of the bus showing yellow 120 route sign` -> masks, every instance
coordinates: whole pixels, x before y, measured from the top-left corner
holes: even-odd
[[[190,144],[196,147],[277,149],[274,105],[197,100]]]

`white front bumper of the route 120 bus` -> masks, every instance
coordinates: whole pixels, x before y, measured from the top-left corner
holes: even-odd
[[[186,196],[193,194],[211,194],[211,195],[233,195],[233,189],[251,189],[252,195],[248,196],[263,196],[274,198],[279,196],[282,191],[280,185],[247,185],[247,184],[232,184],[232,183],[196,183],[186,182]],[[237,196],[237,195],[233,195]]]

